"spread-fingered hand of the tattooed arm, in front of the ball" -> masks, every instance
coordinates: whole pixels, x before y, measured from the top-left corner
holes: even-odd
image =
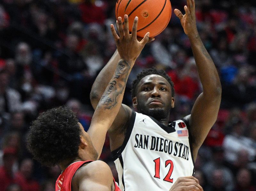
[[[120,58],[126,61],[135,62],[135,60],[140,55],[140,52],[144,48],[145,44],[149,40],[149,33],[146,33],[144,38],[140,42],[137,40],[137,25],[138,17],[135,17],[132,26],[132,34],[130,34],[128,15],[124,15],[124,27],[122,18],[118,17],[117,29],[119,32],[119,36],[116,33],[114,25],[110,25],[112,35],[116,41],[116,47]]]

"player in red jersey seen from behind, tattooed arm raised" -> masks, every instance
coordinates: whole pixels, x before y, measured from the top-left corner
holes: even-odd
[[[28,150],[43,165],[59,165],[62,173],[56,191],[119,191],[109,166],[100,157],[106,133],[118,113],[130,71],[148,42],[149,33],[137,40],[135,18],[132,34],[118,37],[111,25],[120,60],[93,114],[88,133],[67,107],[50,109],[33,121],[27,138]]]

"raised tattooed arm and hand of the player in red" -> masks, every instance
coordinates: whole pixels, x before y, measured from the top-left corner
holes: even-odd
[[[106,133],[121,107],[128,76],[132,70],[135,60],[140,55],[145,44],[148,42],[149,37],[149,33],[147,33],[140,42],[137,40],[136,33],[138,17],[134,20],[132,34],[129,34],[127,15],[124,16],[124,29],[122,26],[122,18],[119,17],[118,21],[121,24],[119,26],[120,36],[116,34],[113,25],[110,27],[116,41],[120,60],[115,68],[114,75],[111,74],[112,77],[108,82],[98,106],[96,107],[92,117],[91,126],[88,130],[88,134],[90,135],[92,143],[99,156],[102,151]]]

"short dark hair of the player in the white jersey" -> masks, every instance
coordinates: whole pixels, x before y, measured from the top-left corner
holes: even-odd
[[[172,90],[172,97],[174,97],[174,84],[172,82],[172,79],[170,76],[168,76],[166,74],[166,72],[164,70],[157,70],[155,67],[152,67],[152,68],[148,68],[148,69],[144,69],[142,70],[138,75],[137,75],[137,78],[135,80],[133,80],[132,82],[132,98],[134,98],[137,94],[137,86],[138,84],[140,83],[140,80],[145,77],[145,76],[148,76],[148,75],[151,75],[151,74],[156,74],[156,75],[159,75],[159,76],[162,76],[164,77],[168,82],[169,84],[171,85],[171,90]]]

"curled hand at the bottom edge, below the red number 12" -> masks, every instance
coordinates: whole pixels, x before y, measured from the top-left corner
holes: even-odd
[[[179,177],[169,191],[204,191],[193,176]]]

